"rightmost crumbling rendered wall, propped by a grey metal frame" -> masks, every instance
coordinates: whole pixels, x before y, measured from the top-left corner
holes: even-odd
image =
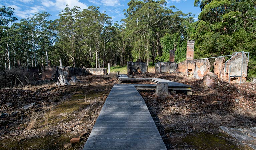
[[[229,76],[231,76],[230,83],[240,83],[240,80],[241,80],[241,83],[246,82],[247,66],[248,66],[248,58],[246,54],[238,53],[236,56],[234,56],[227,62],[226,70],[224,65],[224,67],[220,71],[220,78],[225,81],[229,81]],[[232,77],[232,76],[241,76],[241,72],[242,72],[242,78]]]

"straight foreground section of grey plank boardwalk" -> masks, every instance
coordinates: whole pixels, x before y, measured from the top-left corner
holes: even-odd
[[[110,91],[83,150],[166,150],[150,112],[134,85]]]

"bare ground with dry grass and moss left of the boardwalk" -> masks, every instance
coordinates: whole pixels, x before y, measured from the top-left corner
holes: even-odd
[[[71,149],[82,149],[116,78],[78,77],[71,86],[54,84],[0,90],[0,149],[65,149],[64,144],[88,132]],[[6,103],[12,103],[6,107]],[[35,105],[29,110],[21,108]]]

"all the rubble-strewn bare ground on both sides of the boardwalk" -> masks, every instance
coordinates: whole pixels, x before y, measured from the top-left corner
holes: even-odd
[[[168,150],[239,150],[239,145],[219,126],[255,127],[256,85],[219,81],[208,88],[203,80],[179,73],[143,73],[134,78],[163,78],[193,86],[193,96],[177,91],[167,99],[155,91],[139,91]],[[71,138],[87,132],[71,149],[82,149],[112,86],[114,77],[77,77],[71,86],[25,86],[0,90],[0,149],[64,149]],[[131,83],[134,84],[134,83]],[[154,84],[143,82],[138,84]],[[6,103],[12,103],[6,107]],[[35,102],[29,110],[21,108]]]

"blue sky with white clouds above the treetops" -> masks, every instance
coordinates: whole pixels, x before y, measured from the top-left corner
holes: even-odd
[[[51,20],[57,19],[61,10],[64,10],[66,5],[69,8],[78,6],[81,9],[86,9],[88,6],[99,6],[99,11],[112,17],[113,22],[120,21],[124,18],[123,10],[127,9],[127,3],[130,0],[0,0],[0,6],[14,8],[14,16],[19,20],[33,16],[35,12],[46,11],[52,16]],[[167,6],[175,5],[183,13],[192,12],[195,14],[195,20],[201,12],[199,7],[194,7],[194,0],[167,0]]]

